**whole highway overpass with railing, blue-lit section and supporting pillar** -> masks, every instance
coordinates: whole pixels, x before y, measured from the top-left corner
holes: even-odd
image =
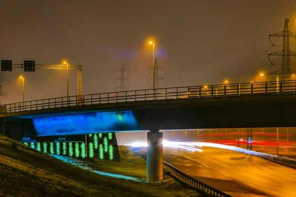
[[[295,101],[296,81],[113,92],[1,105],[0,129],[14,139],[148,130],[159,180],[159,130],[296,127]]]

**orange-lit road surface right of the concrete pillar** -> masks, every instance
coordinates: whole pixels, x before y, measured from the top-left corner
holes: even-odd
[[[296,197],[295,169],[235,151],[200,149],[165,147],[163,160],[233,197]]]

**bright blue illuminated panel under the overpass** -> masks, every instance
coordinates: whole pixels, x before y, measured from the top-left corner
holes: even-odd
[[[132,111],[34,118],[37,136],[140,130]]]

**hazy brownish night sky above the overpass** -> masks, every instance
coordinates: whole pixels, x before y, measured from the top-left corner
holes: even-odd
[[[278,70],[265,66],[229,78],[268,63],[267,54],[281,50],[276,46],[259,55],[271,46],[268,34],[281,32],[285,19],[296,16],[296,0],[0,0],[0,9],[0,59],[14,64],[61,64],[66,59],[83,65],[83,94],[93,94],[113,91],[113,79],[119,77],[113,70],[122,62],[130,69],[131,89],[152,88],[147,80],[149,37],[159,42],[156,57],[167,73],[160,72],[162,87],[219,84],[226,78],[248,81],[261,70]],[[289,28],[296,32],[296,22]],[[22,100],[22,74],[25,100],[66,96],[66,70],[14,69],[3,72],[7,96],[1,103]],[[70,95],[75,95],[75,70],[69,80]]]

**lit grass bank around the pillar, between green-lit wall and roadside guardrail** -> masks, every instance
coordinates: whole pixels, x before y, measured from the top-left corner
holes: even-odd
[[[119,146],[121,162],[113,162],[99,159],[84,159],[84,164],[92,167],[95,170],[131,176],[135,178],[146,179],[147,168],[147,148],[132,148],[129,146]],[[149,190],[155,191],[158,189],[165,192],[167,195],[175,197],[208,197],[203,190],[196,189],[187,183],[182,182],[168,171],[163,172],[163,180],[149,184]]]

